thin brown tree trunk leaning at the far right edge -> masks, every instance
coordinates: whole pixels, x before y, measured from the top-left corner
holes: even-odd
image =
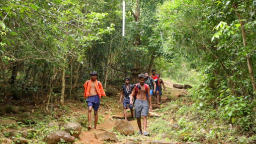
[[[233,8],[234,8],[235,13],[238,16],[238,20],[240,21],[240,24],[241,24],[243,45],[244,45],[244,47],[246,47],[244,22],[242,21],[241,15],[236,11],[236,7],[237,7],[237,5],[235,3],[233,3]],[[253,72],[252,72],[252,62],[250,60],[250,56],[249,56],[248,53],[246,54],[246,57],[247,57],[247,65],[248,65],[248,71],[249,71],[251,82],[252,82],[252,87],[253,87],[253,90],[254,90],[255,96],[256,96],[256,85],[255,85],[255,81],[254,81],[254,77],[253,77]]]

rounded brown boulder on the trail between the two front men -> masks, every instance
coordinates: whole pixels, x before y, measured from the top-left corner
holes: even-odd
[[[117,120],[115,122],[114,129],[123,135],[134,134],[134,128],[132,127],[132,124],[125,120]]]

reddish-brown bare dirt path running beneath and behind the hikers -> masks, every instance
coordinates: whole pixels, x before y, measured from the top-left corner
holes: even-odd
[[[163,92],[163,95],[161,97],[162,99],[162,105],[167,105],[171,100],[177,100],[180,94],[187,94],[187,90],[186,89],[177,89],[173,87],[173,82],[170,80],[165,80],[164,81],[165,84],[165,91]],[[115,99],[119,99],[119,96],[115,97]],[[112,118],[120,118],[120,119],[124,119],[124,115],[123,115],[123,111],[122,111],[122,104],[119,104],[120,107],[115,110],[115,114],[111,115]],[[114,106],[114,105],[111,105]],[[153,109],[158,109],[159,107],[161,107],[160,105],[153,105]],[[102,109],[102,107],[100,106],[99,109]],[[98,115],[105,115],[104,118],[104,123],[98,124],[97,125],[97,130],[90,130],[90,131],[82,131],[81,135],[79,136],[79,141],[76,142],[76,144],[81,144],[81,143],[90,143],[90,144],[96,144],[96,143],[103,143],[102,141],[98,140],[95,137],[95,133],[98,132],[103,132],[103,131],[111,131],[112,128],[114,127],[114,123],[115,121],[112,121],[112,118],[109,117],[109,115],[106,115],[106,113],[104,113],[103,111],[99,111]],[[92,124],[94,123],[94,118],[93,118],[93,113],[92,113]],[[131,113],[127,112],[127,118],[129,120],[129,122],[132,123],[132,125],[134,126],[135,130],[138,129],[137,126],[137,121],[134,119],[132,120],[131,118]],[[150,117],[149,117],[150,119]]]

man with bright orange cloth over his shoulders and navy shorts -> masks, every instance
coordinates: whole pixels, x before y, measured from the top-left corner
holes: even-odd
[[[94,109],[94,129],[96,129],[98,121],[98,109],[99,109],[99,99],[101,96],[106,96],[101,82],[97,81],[98,74],[96,71],[90,73],[91,79],[84,83],[84,97],[87,98],[88,106],[88,129],[92,128],[91,125],[91,114],[92,108]]]

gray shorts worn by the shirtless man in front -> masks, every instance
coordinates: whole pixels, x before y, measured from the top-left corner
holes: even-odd
[[[134,117],[140,118],[142,116],[147,116],[149,111],[149,106],[147,100],[136,99],[134,103]]]

